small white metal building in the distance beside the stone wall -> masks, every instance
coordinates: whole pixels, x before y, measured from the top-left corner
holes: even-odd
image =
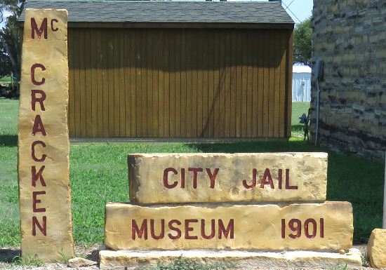
[[[311,101],[311,67],[293,65],[292,102]]]

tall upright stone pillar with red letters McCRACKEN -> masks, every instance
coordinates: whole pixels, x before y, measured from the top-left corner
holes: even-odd
[[[28,9],[22,44],[18,182],[22,257],[74,256],[67,129],[67,11]]]

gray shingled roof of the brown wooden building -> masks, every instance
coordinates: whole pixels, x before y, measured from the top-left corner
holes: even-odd
[[[29,0],[25,8],[65,8],[69,22],[294,23],[279,2]]]

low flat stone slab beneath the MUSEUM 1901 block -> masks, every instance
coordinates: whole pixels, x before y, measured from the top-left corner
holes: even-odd
[[[168,264],[178,257],[201,263],[233,262],[237,269],[349,269],[361,266],[361,252],[350,249],[350,255],[338,252],[290,251],[248,252],[241,250],[103,250],[99,252],[101,270],[136,270],[142,267]]]

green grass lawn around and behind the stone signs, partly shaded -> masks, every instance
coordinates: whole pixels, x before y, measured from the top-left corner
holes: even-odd
[[[293,104],[295,135],[302,135],[298,117],[306,103]],[[0,99],[0,247],[20,243],[17,180],[18,100]],[[300,126],[300,127],[299,127]],[[126,154],[134,152],[264,152],[327,151],[301,138],[277,142],[215,144],[117,143],[72,145],[70,179],[76,243],[102,243],[104,208],[108,201],[128,201]],[[384,161],[329,153],[328,194],[331,201],[350,201],[354,207],[354,241],[367,241],[382,225]]]

